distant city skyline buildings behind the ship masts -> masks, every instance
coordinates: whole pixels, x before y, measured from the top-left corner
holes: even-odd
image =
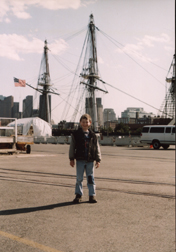
[[[50,97],[50,96],[49,96]],[[50,104],[51,104],[51,97],[50,97]],[[117,117],[116,113],[113,108],[103,108],[101,98],[96,98],[97,101],[97,115],[98,115],[98,124],[99,127],[103,127],[104,123],[107,121],[112,122],[123,122],[129,123],[130,118],[137,119],[137,118],[155,118],[156,115],[151,112],[146,112],[142,107],[127,107],[124,111],[121,111],[121,117]],[[92,109],[90,108],[91,99],[86,98],[86,113],[89,113],[92,117]],[[33,107],[33,96],[28,95],[23,99],[23,107],[22,110],[19,110],[19,103],[14,101],[13,96],[3,96],[0,95],[0,117],[15,117],[15,118],[29,118],[29,117],[39,117],[43,120],[43,110],[40,109],[41,104],[39,104],[39,108],[35,109]],[[59,122],[54,122],[52,119],[52,124],[59,124],[64,120]],[[78,123],[79,120],[75,123]],[[73,123],[73,122],[72,122]]]

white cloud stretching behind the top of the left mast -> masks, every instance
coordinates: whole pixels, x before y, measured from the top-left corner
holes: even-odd
[[[28,53],[42,53],[44,42],[37,38],[28,40],[22,35],[17,34],[1,34],[0,35],[0,57],[5,57],[13,60],[23,60],[21,55]],[[59,54],[66,50],[67,43],[60,39],[55,40],[48,45],[53,54]]]

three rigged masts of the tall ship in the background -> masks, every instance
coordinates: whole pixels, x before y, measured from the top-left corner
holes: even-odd
[[[97,38],[96,32],[98,28],[95,26],[93,14],[89,17],[89,23],[87,26],[87,33],[84,40],[84,45],[82,52],[84,51],[83,64],[81,72],[79,72],[79,90],[77,97],[71,94],[75,90],[71,87],[69,92],[69,98],[65,105],[63,113],[68,114],[69,105],[73,103],[74,99],[74,112],[72,114],[70,122],[78,121],[78,114],[80,111],[82,113],[88,113],[92,117],[92,127],[95,132],[98,132],[100,126],[102,125],[100,115],[103,115],[100,98],[97,96],[99,93],[108,93],[108,91],[102,88],[105,83],[99,75],[98,67],[98,55],[97,55]],[[48,44],[45,40],[44,42],[44,52],[40,66],[40,73],[37,82],[37,92],[40,93],[39,100],[39,117],[48,123],[51,123],[51,95],[59,95],[56,93],[51,84],[49,62],[48,62]],[[160,117],[162,118],[175,118],[175,55],[173,57],[171,67],[172,76],[166,78],[166,83],[170,84],[169,89],[167,89],[164,102],[160,108]],[[101,83],[101,85],[100,85]],[[27,84],[30,86],[29,84]],[[32,86],[30,86],[32,87]],[[33,87],[32,87],[33,88]],[[135,98],[135,97],[133,97]],[[139,100],[139,99],[138,99]],[[84,108],[81,110],[82,103],[84,103]]]

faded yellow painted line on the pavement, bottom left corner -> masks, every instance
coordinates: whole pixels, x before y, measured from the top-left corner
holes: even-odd
[[[9,233],[6,233],[6,232],[3,232],[3,231],[0,231],[0,235],[1,236],[4,236],[4,237],[7,237],[13,241],[17,241],[17,242],[20,242],[20,243],[24,243],[28,246],[31,246],[33,248],[38,248],[42,251],[45,251],[45,252],[62,252],[62,251],[59,251],[57,249],[54,249],[54,248],[50,248],[50,247],[47,247],[47,246],[44,246],[40,243],[37,243],[37,242],[34,242],[34,241],[30,241],[28,239],[25,239],[25,238],[20,238],[16,235],[12,235],[12,234],[9,234]]]

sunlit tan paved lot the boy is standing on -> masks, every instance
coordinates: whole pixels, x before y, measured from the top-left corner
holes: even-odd
[[[72,204],[69,145],[0,155],[1,252],[174,252],[175,147],[102,146],[97,204]]]

